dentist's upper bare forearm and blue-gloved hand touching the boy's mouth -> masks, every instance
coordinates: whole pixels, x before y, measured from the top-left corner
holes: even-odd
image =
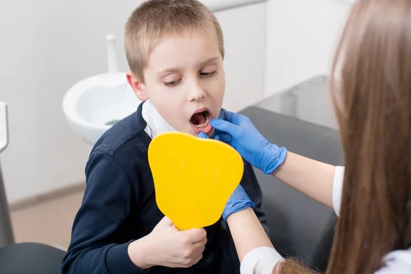
[[[277,147],[258,132],[247,116],[223,110],[219,119],[210,123],[218,131],[216,138],[234,147],[247,162],[332,208],[335,166]]]

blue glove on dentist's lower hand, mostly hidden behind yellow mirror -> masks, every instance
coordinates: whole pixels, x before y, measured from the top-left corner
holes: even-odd
[[[208,139],[207,134],[205,134],[204,132],[200,132],[198,137]],[[218,138],[218,135],[214,136],[214,139],[218,140]],[[227,222],[229,215],[241,210],[245,210],[246,208],[254,208],[254,203],[248,197],[244,188],[242,188],[242,186],[239,184],[225,204],[225,208],[223,210],[223,220]]]

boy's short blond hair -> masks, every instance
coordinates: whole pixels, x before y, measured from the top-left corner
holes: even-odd
[[[187,30],[214,32],[224,58],[223,32],[216,17],[197,0],[148,0],[125,25],[125,54],[129,68],[144,83],[143,71],[155,45]]]

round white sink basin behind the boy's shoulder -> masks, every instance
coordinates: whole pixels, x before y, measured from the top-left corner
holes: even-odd
[[[114,123],[135,112],[140,103],[125,73],[105,73],[70,88],[64,95],[63,111],[73,130],[94,145]]]

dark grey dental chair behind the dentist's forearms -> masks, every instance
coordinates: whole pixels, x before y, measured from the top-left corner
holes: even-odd
[[[254,106],[240,113],[248,116],[270,142],[284,146],[288,151],[334,165],[343,160],[340,140],[334,129]],[[275,248],[283,256],[299,258],[314,269],[324,271],[337,219],[334,210],[275,177],[258,170],[256,175]]]

